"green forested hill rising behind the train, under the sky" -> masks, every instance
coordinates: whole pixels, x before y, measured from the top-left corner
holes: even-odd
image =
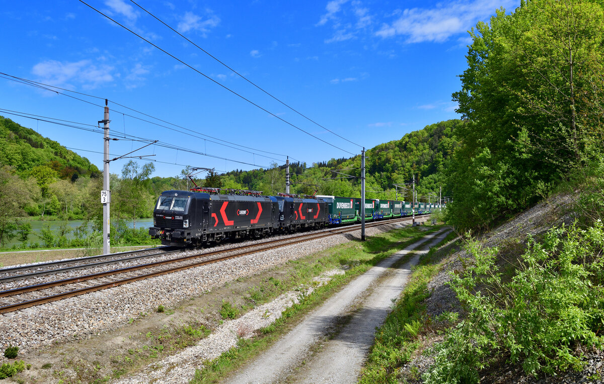
[[[445,190],[443,170],[446,160],[459,144],[455,132],[465,124],[461,120],[442,121],[405,134],[400,140],[367,150],[367,197],[400,199],[400,193],[395,194],[394,184],[411,183],[413,176],[417,183],[418,197],[422,201],[428,201],[429,192],[438,193],[440,186],[443,187],[443,195],[448,193]],[[359,197],[360,168],[360,155],[350,159],[313,163],[311,167],[307,167],[305,163],[294,163],[290,167],[294,184],[291,192],[312,195],[318,190],[318,194]],[[341,172],[357,178],[326,180],[342,176],[332,172],[338,169],[347,169]],[[220,180],[213,179],[214,184],[211,186],[243,187],[275,194],[284,191],[284,176],[284,166],[275,165],[273,169],[228,172]],[[410,198],[408,192],[406,198]]]

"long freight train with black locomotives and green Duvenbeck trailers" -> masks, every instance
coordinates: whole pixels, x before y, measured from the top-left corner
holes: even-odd
[[[226,192],[226,193],[221,193]],[[439,204],[365,199],[365,220],[430,213]],[[319,229],[361,221],[361,199],[338,196],[264,196],[252,190],[166,190],[153,210],[149,234],[161,244],[199,247],[227,239]]]

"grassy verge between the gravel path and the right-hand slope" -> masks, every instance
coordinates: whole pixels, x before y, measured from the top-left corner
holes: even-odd
[[[456,236],[453,232],[449,233],[443,244]],[[444,256],[442,251],[437,252],[436,249],[437,247],[432,247],[428,254],[420,258],[419,265],[414,268],[413,275],[393,311],[377,330],[374,345],[359,382],[399,382],[399,368],[410,362],[414,351],[420,347],[420,336],[426,332],[434,332],[444,325],[423,315],[425,305],[422,302],[430,295],[428,283],[440,271],[437,262]],[[409,378],[417,379],[416,376],[417,373],[411,372]]]

